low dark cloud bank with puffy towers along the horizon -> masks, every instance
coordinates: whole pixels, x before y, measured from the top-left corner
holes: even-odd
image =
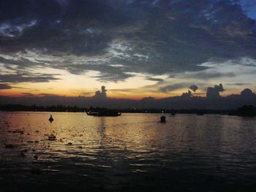
[[[1,86],[0,86],[1,88]],[[107,107],[114,109],[203,109],[203,110],[230,110],[241,107],[244,104],[252,104],[256,106],[256,94],[249,88],[241,91],[240,94],[232,94],[230,96],[219,96],[219,91],[223,91],[222,85],[215,85],[211,90],[211,94],[207,97],[194,96],[192,91],[182,93],[181,96],[173,96],[165,99],[154,99],[146,97],[138,101],[131,99],[110,99],[106,97],[105,87],[102,86],[102,91],[97,91],[92,97],[67,97],[56,96],[45,93],[40,93],[37,96],[31,93],[23,93],[21,97],[0,96],[1,104],[26,104],[26,105],[64,105],[64,106],[79,106],[79,107]],[[212,93],[214,92],[214,93]]]

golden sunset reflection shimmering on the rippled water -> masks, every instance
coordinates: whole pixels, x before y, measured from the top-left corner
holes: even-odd
[[[53,115],[53,123],[48,121],[50,115]],[[26,160],[30,161],[56,161],[56,158],[104,161],[102,156],[115,156],[118,151],[122,158],[149,158],[166,151],[211,155],[227,150],[227,145],[236,147],[245,143],[239,127],[244,124],[234,123],[241,122],[241,118],[165,116],[167,123],[162,124],[159,114],[92,117],[72,112],[5,112],[1,114],[1,141],[4,145],[15,145],[12,152],[26,155]],[[234,129],[236,126],[238,128]],[[50,135],[56,140],[49,139]],[[4,145],[1,145],[1,152],[8,157],[10,149]],[[25,154],[23,150],[28,152]]]

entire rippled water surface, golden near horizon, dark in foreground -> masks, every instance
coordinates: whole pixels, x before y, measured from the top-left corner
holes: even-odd
[[[256,118],[161,115],[1,112],[0,191],[256,191]]]

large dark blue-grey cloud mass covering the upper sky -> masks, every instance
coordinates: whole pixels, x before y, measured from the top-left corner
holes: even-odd
[[[1,1],[0,51],[14,57],[28,50],[55,56],[59,62],[41,58],[33,62],[20,56],[12,64],[23,68],[48,65],[73,74],[94,70],[105,81],[125,80],[132,72],[199,72],[208,69],[199,65],[209,59],[256,59],[255,20],[247,18],[234,2]],[[67,55],[72,58],[62,61]],[[80,56],[102,57],[102,61],[85,63]],[[0,62],[7,63],[3,58]]]

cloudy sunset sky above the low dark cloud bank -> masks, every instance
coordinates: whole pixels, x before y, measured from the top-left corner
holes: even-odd
[[[0,1],[0,95],[256,91],[255,0]]]

